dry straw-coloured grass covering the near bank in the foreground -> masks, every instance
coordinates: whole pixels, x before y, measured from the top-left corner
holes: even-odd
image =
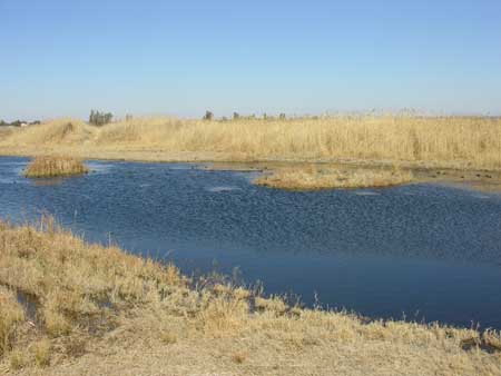
[[[480,349],[499,344],[498,333],[365,323],[194,284],[171,265],[86,244],[50,218],[37,228],[0,222],[0,284],[31,296],[38,311],[30,324],[1,289],[9,339],[0,373],[501,375],[501,353]]]

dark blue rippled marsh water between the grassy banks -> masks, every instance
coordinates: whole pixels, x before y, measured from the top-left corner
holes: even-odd
[[[256,172],[90,161],[29,180],[0,157],[0,217],[50,212],[88,240],[173,260],[187,274],[262,281],[312,306],[374,318],[501,328],[501,194],[444,185],[292,192]]]

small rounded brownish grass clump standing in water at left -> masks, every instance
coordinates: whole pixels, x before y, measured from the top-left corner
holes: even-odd
[[[78,158],[46,156],[35,158],[24,171],[28,178],[51,178],[87,174],[89,169]]]

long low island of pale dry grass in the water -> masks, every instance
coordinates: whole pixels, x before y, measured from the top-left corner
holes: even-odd
[[[316,190],[330,188],[389,187],[413,180],[411,171],[401,169],[333,169],[315,165],[308,168],[275,169],[272,175],[263,175],[253,182],[281,189]]]

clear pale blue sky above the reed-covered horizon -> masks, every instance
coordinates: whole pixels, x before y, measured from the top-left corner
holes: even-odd
[[[501,113],[500,0],[0,0],[0,119]]]

